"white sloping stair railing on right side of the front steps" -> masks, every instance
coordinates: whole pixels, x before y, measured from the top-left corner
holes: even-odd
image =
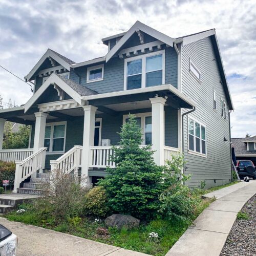
[[[51,172],[52,170],[61,170],[62,173],[74,173],[77,174],[78,168],[81,166],[81,154],[82,146],[74,146],[59,157],[57,160],[51,160]]]

